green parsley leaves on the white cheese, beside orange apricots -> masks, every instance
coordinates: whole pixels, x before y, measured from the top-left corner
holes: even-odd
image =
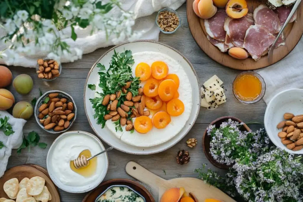
[[[122,88],[128,81],[131,81],[131,86],[127,91],[131,92],[133,96],[138,95],[140,80],[138,77],[132,76],[133,65],[134,59],[132,58],[132,51],[130,50],[126,50],[120,54],[114,50],[114,55],[112,56],[108,70],[106,70],[104,65],[100,63],[97,64],[97,67],[99,68],[98,74],[100,76],[99,87],[102,89],[102,92],[97,92],[100,97],[95,97],[89,100],[92,103],[92,108],[95,110],[94,118],[97,119],[97,124],[102,125],[102,128],[105,127],[106,122],[104,116],[109,113],[107,106],[102,105],[102,101],[106,95],[116,94],[118,91],[121,91],[121,96],[117,98],[117,107],[120,107],[126,100],[126,93],[123,93]],[[88,88],[95,90],[96,86],[95,84],[88,84]],[[128,112],[128,115],[130,114],[131,111]],[[128,116],[128,120],[131,120],[130,116]],[[115,122],[115,125],[116,131],[123,131],[119,120]]]

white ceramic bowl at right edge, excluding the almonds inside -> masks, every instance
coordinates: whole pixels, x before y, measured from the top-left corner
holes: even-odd
[[[287,149],[278,137],[281,129],[277,128],[277,124],[284,121],[283,114],[286,112],[295,115],[303,114],[303,89],[289,89],[276,94],[268,103],[264,115],[265,130],[271,141],[289,153],[303,154],[303,149],[299,151]]]

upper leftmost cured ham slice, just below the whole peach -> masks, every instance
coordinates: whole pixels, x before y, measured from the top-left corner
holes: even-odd
[[[204,20],[206,33],[218,41],[225,41],[226,31],[224,30],[224,22],[227,14],[225,9],[218,9],[217,13],[209,19]]]

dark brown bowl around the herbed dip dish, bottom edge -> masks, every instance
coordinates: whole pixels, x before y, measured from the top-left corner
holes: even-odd
[[[96,198],[99,197],[99,195],[103,191],[105,191],[108,187],[110,187],[112,185],[126,185],[128,187],[131,187],[133,190],[135,190],[139,194],[141,194],[145,198],[146,202],[155,202],[155,199],[152,197],[152,195],[148,192],[148,190],[145,187],[143,187],[141,184],[139,184],[135,181],[127,180],[127,179],[113,179],[113,180],[109,180],[109,181],[106,181],[106,182],[102,183],[97,188],[95,188],[94,190],[89,192],[84,197],[82,202],[93,202],[93,201],[95,201]]]

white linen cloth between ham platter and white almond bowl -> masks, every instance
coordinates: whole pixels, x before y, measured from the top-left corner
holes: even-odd
[[[281,91],[303,88],[303,37],[284,59],[255,72],[264,78],[266,91],[263,100],[266,104]]]

